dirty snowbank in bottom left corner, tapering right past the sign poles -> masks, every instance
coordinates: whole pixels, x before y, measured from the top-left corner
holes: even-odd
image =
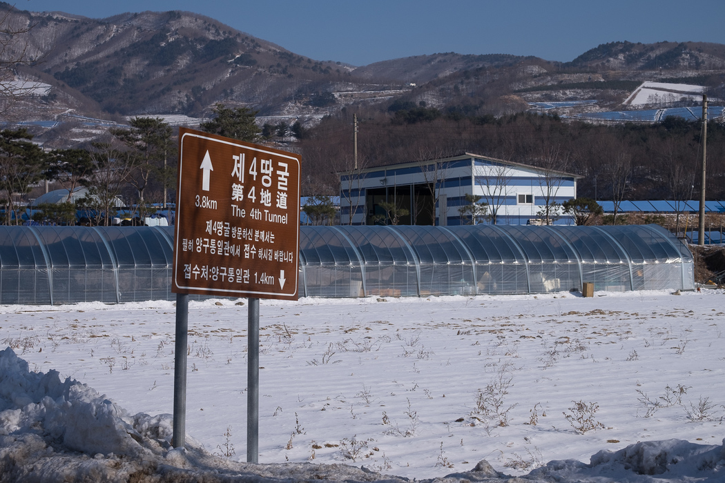
[[[30,372],[11,348],[0,351],[2,481],[380,479],[344,465],[234,463],[210,455],[194,440],[186,448],[170,448],[171,434],[170,414],[130,416],[91,387],[70,377],[62,382],[54,370]]]

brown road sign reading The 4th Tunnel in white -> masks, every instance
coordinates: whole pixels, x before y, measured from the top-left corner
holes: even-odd
[[[179,130],[172,292],[297,300],[299,156]]]

